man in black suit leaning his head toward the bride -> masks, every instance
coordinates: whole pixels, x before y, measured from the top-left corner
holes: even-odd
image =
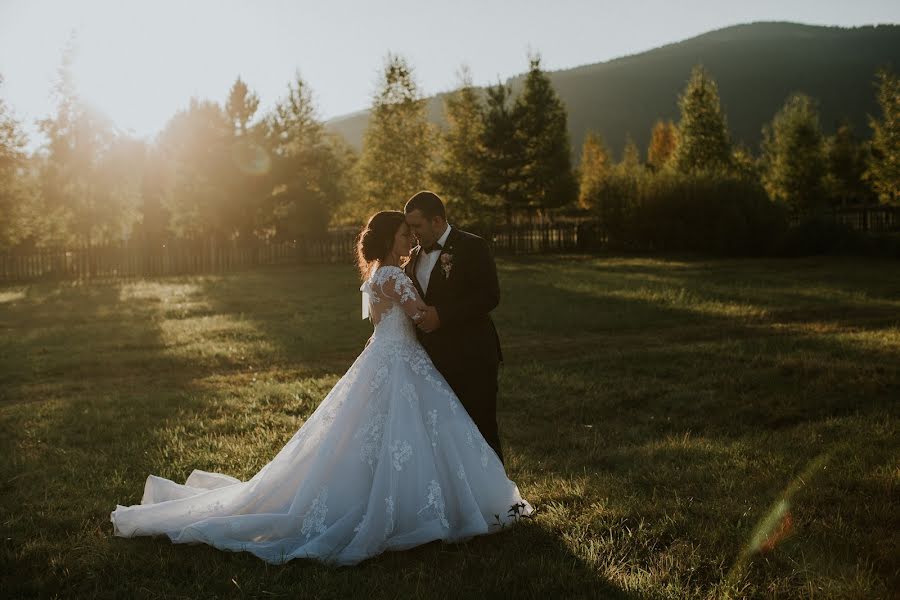
[[[406,273],[429,305],[418,325],[419,341],[503,462],[497,431],[503,355],[489,315],[500,303],[494,259],[485,240],[447,223],[437,194],[417,193],[404,212],[419,242]]]

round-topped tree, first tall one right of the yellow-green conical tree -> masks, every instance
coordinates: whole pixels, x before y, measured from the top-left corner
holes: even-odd
[[[825,201],[825,138],[812,99],[793,94],[763,128],[763,184],[773,200],[797,213]]]

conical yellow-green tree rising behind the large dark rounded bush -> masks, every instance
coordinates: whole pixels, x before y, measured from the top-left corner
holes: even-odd
[[[716,82],[701,67],[694,67],[678,100],[678,145],[673,157],[682,173],[716,171],[731,167],[731,140],[719,102]]]

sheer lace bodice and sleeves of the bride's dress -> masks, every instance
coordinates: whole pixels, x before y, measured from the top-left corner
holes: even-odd
[[[363,317],[375,324],[373,340],[414,340],[414,321],[424,304],[412,280],[393,265],[378,267],[360,286]]]

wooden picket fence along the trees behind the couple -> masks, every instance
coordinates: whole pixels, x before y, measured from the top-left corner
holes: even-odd
[[[582,236],[584,237],[584,236]],[[575,224],[522,226],[487,233],[497,254],[567,252],[579,245]],[[170,242],[157,247],[106,245],[41,248],[0,254],[0,282],[221,273],[259,265],[353,263],[355,235],[333,232],[311,239],[253,245]]]

